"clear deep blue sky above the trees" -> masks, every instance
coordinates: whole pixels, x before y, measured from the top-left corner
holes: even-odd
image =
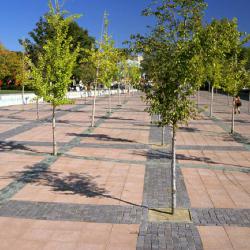
[[[140,16],[151,0],[65,0],[65,9],[83,16],[78,23],[99,38],[104,10],[109,12],[110,33],[118,46],[130,34],[145,33],[150,19]],[[206,20],[237,17],[241,31],[250,33],[250,0],[207,0]],[[39,17],[48,11],[47,0],[1,0],[0,41],[10,50],[20,50],[19,38],[28,37]]]

